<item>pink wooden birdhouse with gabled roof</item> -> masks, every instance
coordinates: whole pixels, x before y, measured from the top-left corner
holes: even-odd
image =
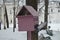
[[[32,6],[23,6],[17,18],[19,31],[34,31],[34,25],[38,24],[38,13]]]

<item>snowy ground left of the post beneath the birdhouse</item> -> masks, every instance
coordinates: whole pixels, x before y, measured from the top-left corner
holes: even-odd
[[[2,29],[0,30],[0,40],[27,40],[26,31],[19,32],[16,28],[16,31],[13,32],[12,24],[10,26],[10,28],[4,30],[2,25]]]

